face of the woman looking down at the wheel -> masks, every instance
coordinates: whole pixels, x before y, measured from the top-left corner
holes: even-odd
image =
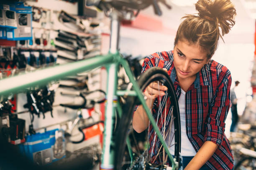
[[[173,58],[178,80],[195,77],[203,65],[209,62],[207,52],[202,50],[199,45],[190,44],[187,40],[177,42]]]

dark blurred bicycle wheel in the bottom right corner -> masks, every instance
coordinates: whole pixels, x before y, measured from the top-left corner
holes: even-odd
[[[248,157],[238,161],[234,170],[256,170],[256,158]]]

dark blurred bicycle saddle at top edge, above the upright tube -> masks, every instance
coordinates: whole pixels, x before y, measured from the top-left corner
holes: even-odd
[[[156,15],[162,15],[158,2],[164,4],[168,9],[172,7],[166,3],[166,0],[86,0],[87,6],[96,6],[100,10],[108,11],[111,7],[116,10],[143,10],[153,5]]]

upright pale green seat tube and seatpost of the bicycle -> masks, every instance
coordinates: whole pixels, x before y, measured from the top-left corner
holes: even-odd
[[[111,34],[110,34],[110,53],[118,53],[119,48],[120,18],[118,13],[113,10],[111,13]],[[113,148],[113,125],[115,119],[115,107],[117,103],[117,72],[118,62],[106,66],[108,72],[107,97],[105,105],[105,127],[104,142],[100,168],[102,170],[114,169],[114,148]]]

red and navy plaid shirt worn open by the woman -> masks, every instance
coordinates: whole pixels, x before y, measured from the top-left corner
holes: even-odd
[[[146,57],[142,72],[150,67],[161,67],[168,70],[179,99],[181,87],[173,64],[173,51],[156,52]],[[230,144],[224,134],[225,119],[230,108],[230,85],[231,75],[227,67],[211,60],[197,73],[195,82],[189,87],[185,96],[187,137],[195,151],[197,152],[205,141],[212,141],[218,145],[218,149],[206,162],[211,170],[231,170],[233,168]],[[156,118],[158,109],[159,98],[156,98],[152,114],[159,125],[159,129],[167,130],[169,123],[166,124],[166,127],[162,127],[163,117],[160,116],[158,120]],[[167,109],[170,112],[171,108]],[[162,113],[164,112],[161,111],[161,115],[164,115]],[[170,116],[167,116],[166,120],[169,119]],[[153,133],[152,129],[150,126],[149,134]],[[155,156],[161,144],[159,139],[156,139],[153,148],[154,138],[152,136],[149,139],[151,142],[149,152]]]

